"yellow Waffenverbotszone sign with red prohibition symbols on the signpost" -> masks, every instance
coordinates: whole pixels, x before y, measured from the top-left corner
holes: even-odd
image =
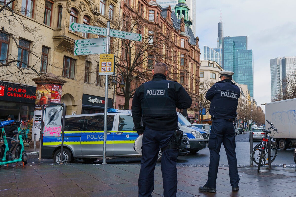
[[[114,64],[114,54],[100,54],[99,75],[113,75]]]

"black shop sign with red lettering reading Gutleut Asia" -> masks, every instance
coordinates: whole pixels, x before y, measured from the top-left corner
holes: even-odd
[[[36,87],[0,82],[0,100],[35,103]]]

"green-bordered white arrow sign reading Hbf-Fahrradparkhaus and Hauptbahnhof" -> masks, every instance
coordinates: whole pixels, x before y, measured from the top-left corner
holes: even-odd
[[[76,31],[76,32],[85,32],[97,35],[107,35],[107,29],[102,27],[96,27],[92,25],[84,25],[80,23],[71,23],[69,26],[69,30]]]

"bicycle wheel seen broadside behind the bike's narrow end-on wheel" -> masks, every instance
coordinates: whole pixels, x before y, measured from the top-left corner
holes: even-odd
[[[261,143],[257,144],[254,147],[254,151],[252,154],[253,157],[253,161],[255,162],[255,164],[259,165],[259,159],[260,159],[260,155],[259,155],[259,150],[261,148]],[[276,158],[277,155],[277,148],[276,145],[274,145],[274,143],[270,142],[270,157],[271,157],[271,162],[274,161],[274,159]],[[268,165],[268,149],[266,149],[266,153],[264,155],[264,158],[262,159],[263,163],[261,163],[261,165]]]

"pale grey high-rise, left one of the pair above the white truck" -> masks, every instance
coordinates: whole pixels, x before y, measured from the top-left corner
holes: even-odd
[[[270,60],[271,100],[274,100],[277,94],[282,94],[281,60],[280,57]]]

